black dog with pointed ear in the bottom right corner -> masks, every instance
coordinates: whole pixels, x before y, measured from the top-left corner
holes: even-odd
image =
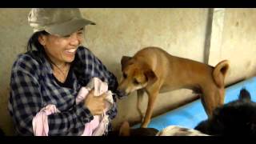
[[[246,89],[240,90],[238,100],[214,110],[213,116],[194,128],[210,135],[256,135],[256,103]]]

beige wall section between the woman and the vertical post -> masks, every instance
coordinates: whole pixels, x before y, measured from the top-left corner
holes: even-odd
[[[132,56],[145,46],[160,46],[170,54],[203,61],[207,9],[87,9],[86,18],[97,22],[86,30],[86,46],[121,77],[122,55]],[[107,54],[106,54],[107,53]],[[156,114],[191,97],[190,90],[161,94],[154,107]],[[171,97],[170,97],[171,96]],[[139,120],[136,93],[118,102],[114,124]],[[146,111],[147,97],[142,110]]]

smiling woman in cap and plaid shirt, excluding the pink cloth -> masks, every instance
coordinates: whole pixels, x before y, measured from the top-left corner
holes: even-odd
[[[113,94],[118,86],[114,74],[81,46],[84,27],[94,22],[82,18],[78,9],[57,8],[32,9],[28,21],[34,34],[26,54],[18,56],[11,71],[9,110],[14,126],[20,135],[34,135],[33,118],[51,104],[59,112],[48,115],[47,134],[82,135],[85,124],[103,114],[106,94],[94,97],[90,90],[76,103],[81,87],[91,78],[106,82]],[[114,96],[114,105],[107,111],[110,119],[117,114]]]

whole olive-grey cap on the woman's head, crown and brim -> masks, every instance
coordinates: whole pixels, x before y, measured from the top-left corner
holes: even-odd
[[[78,8],[33,8],[28,22],[34,32],[46,30],[50,34],[65,36],[94,22],[82,18]]]

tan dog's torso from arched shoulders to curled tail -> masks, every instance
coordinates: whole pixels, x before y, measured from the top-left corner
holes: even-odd
[[[159,79],[165,79],[161,92],[187,88],[198,89],[209,83],[220,87],[228,70],[228,62],[214,66],[169,54],[159,47],[146,47],[134,54],[134,62],[146,63]],[[221,64],[222,65],[221,65]],[[224,75],[224,76],[222,76]],[[202,78],[203,77],[203,78]]]

